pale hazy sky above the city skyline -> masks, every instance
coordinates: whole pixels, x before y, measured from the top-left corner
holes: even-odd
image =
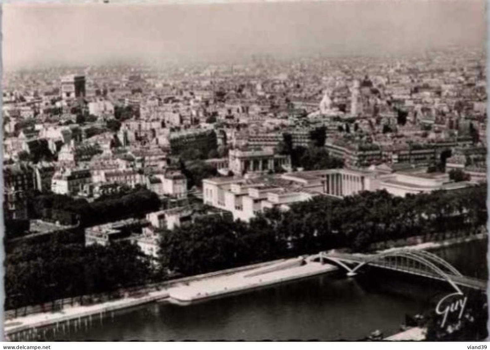
[[[3,5],[6,68],[484,47],[484,0]]]

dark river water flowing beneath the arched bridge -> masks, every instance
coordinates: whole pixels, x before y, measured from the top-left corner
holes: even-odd
[[[433,252],[464,275],[487,278],[487,241]],[[56,340],[359,340],[375,329],[396,333],[405,315],[433,307],[450,289],[438,281],[372,269],[342,271],[190,305],[150,304]],[[48,337],[47,340],[55,340]]]

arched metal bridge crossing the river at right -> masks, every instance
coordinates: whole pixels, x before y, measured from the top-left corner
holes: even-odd
[[[425,250],[399,249],[379,254],[320,252],[310,259],[333,262],[347,270],[348,276],[354,276],[363,266],[371,265],[447,281],[458,293],[461,293],[460,286],[487,289],[487,281],[464,276],[447,261]]]

